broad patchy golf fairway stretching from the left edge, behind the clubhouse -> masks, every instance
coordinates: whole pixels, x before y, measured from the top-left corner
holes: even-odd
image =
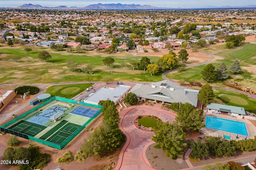
[[[33,50],[28,54],[22,49],[1,49],[0,62],[2,62],[0,83],[60,83],[79,81],[102,81],[106,76],[111,76],[114,81],[142,81],[156,82],[163,80],[162,72],[153,76],[143,70],[134,70],[128,66],[131,60],[139,60],[142,57],[124,56],[124,54],[102,55],[72,54],[72,53],[50,53],[51,59],[44,62],[38,59],[39,51]],[[21,60],[14,62],[13,56],[21,57]],[[112,72],[102,60],[105,57],[114,58],[111,65]],[[74,71],[67,68],[68,59],[74,59],[74,63],[80,68],[91,64],[94,74]],[[156,62],[158,57],[148,57],[151,62]]]

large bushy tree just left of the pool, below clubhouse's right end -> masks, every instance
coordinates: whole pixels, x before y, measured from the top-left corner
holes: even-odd
[[[180,104],[179,111],[175,120],[178,122],[183,131],[197,131],[205,127],[203,121],[204,116],[201,115],[202,110],[195,110],[195,107],[190,103]]]

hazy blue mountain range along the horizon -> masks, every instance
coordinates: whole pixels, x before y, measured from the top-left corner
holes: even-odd
[[[9,8],[9,7],[6,7]],[[67,7],[67,6],[56,6],[56,7],[46,7],[41,5],[24,4],[22,6],[17,6],[15,8],[19,9],[51,9],[51,10],[160,10],[160,9],[214,9],[214,8],[256,8],[256,5],[247,6],[206,6],[198,8],[166,8],[166,7],[156,7],[151,5],[136,5],[136,4],[92,4],[85,7]]]

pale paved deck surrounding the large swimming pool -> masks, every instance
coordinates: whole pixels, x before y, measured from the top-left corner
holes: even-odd
[[[245,119],[245,118],[238,119],[237,117],[231,117],[231,116],[222,115],[222,114],[217,115],[215,113],[207,112],[207,113],[204,113],[204,124],[206,124],[206,116],[212,116],[212,117],[218,117],[218,118],[228,119],[228,120],[232,120],[232,121],[244,122],[246,125],[247,133],[248,133],[247,139],[254,139],[254,136],[256,136],[256,127],[248,119]],[[242,140],[242,139],[246,138],[246,136],[244,136],[244,135],[238,135],[238,139],[236,139],[237,134],[235,134],[235,133],[220,131],[217,129],[207,128],[207,127],[203,127],[202,132],[205,133],[206,135],[216,136],[216,137],[218,137],[218,136],[223,137],[223,135],[228,135],[231,137],[232,140]]]

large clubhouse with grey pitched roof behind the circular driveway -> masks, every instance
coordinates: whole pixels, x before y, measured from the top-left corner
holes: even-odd
[[[197,106],[198,90],[191,90],[175,84],[170,80],[154,82],[151,85],[136,84],[131,92],[136,94],[139,100],[153,100],[162,103],[190,103]]]

